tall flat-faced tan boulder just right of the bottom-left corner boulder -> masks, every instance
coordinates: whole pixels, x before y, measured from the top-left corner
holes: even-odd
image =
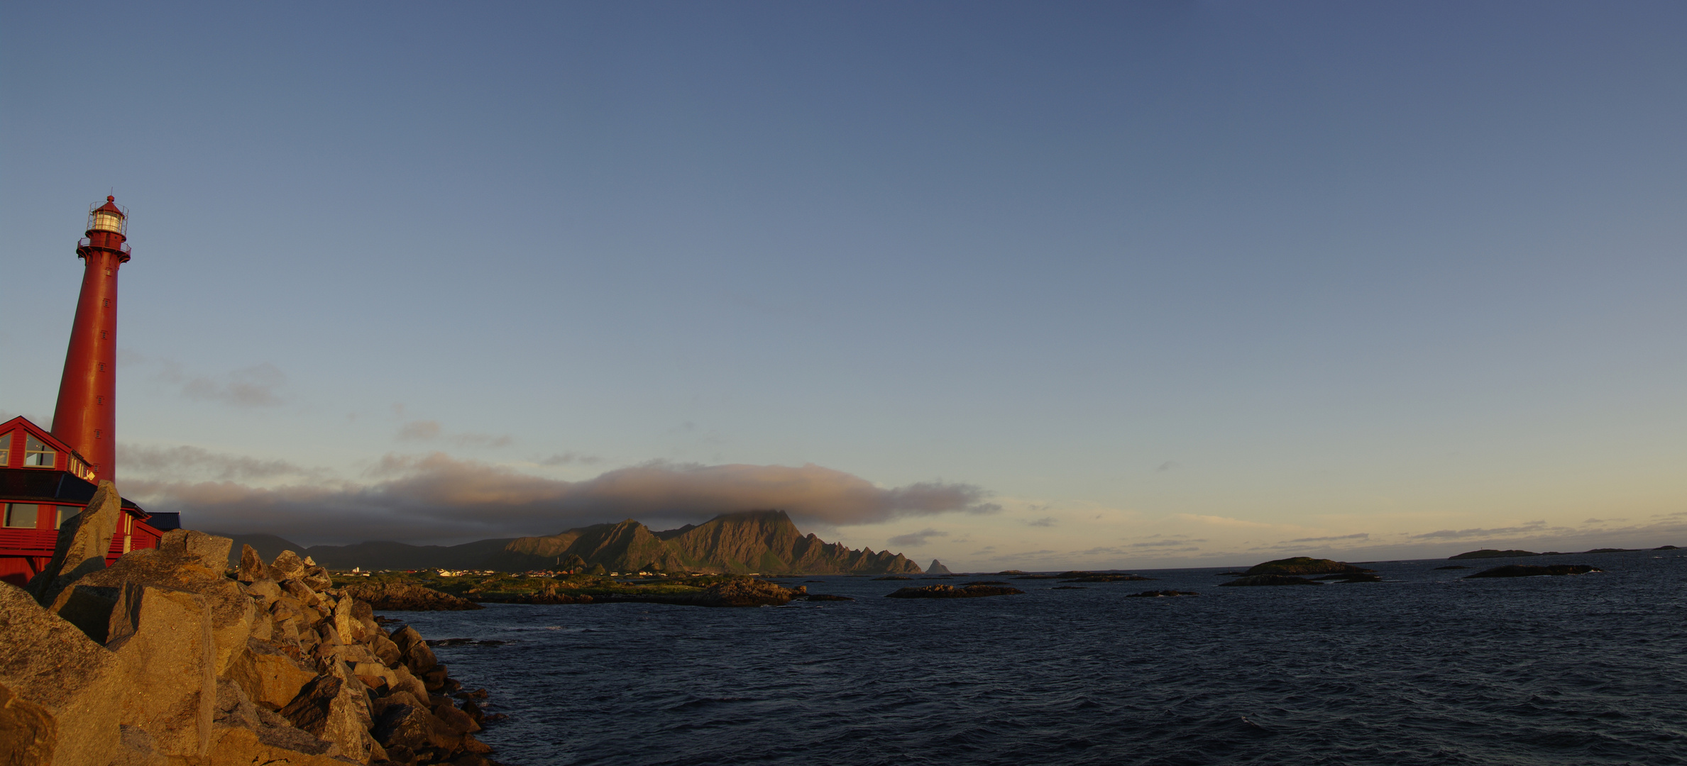
[[[111,611],[110,641],[128,675],[123,724],[152,736],[159,753],[204,758],[211,751],[216,645],[206,597],[130,582]]]

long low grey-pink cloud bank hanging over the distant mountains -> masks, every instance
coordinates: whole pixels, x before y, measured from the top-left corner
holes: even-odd
[[[253,488],[236,479],[283,467],[218,462],[194,452],[162,457],[189,456],[216,472],[216,481],[125,479],[123,493],[152,511],[181,511],[194,528],[273,531],[302,543],[550,535],[623,518],[680,523],[756,508],[832,526],[999,510],[973,484],[928,481],[886,489],[813,464],[646,462],[570,483],[434,452],[388,456],[371,471],[369,484],[317,479]]]

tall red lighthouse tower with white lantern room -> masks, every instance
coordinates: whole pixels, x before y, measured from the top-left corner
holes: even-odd
[[[116,474],[116,270],[128,263],[128,211],[115,197],[88,211],[83,294],[64,354],[52,435],[93,464],[96,481]]]

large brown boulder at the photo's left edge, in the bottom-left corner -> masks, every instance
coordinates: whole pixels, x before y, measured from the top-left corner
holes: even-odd
[[[111,651],[0,582],[0,763],[106,766],[123,693]]]

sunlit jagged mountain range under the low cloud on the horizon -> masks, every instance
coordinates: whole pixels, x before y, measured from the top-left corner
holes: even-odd
[[[250,543],[302,550],[329,569],[594,569],[607,572],[719,574],[919,574],[901,553],[852,550],[803,535],[784,511],[741,511],[678,530],[639,521],[580,526],[558,535],[477,540],[462,545],[368,542],[300,548],[273,535],[229,535]],[[261,545],[260,545],[261,543]],[[231,565],[234,562],[229,562]]]

